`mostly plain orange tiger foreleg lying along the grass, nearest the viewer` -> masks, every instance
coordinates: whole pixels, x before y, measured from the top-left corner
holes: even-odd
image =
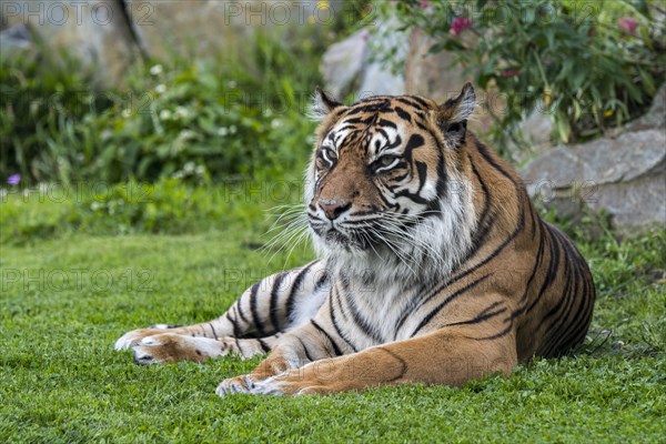
[[[290,352],[279,344],[274,353],[285,356]],[[216,393],[324,394],[405,383],[458,386],[496,372],[511,374],[517,353],[513,332],[493,337],[478,330],[456,327],[313,361],[302,367],[273,369],[275,364],[266,360],[250,375],[223,382]]]

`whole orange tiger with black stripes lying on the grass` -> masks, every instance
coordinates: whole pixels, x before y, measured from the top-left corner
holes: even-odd
[[[220,317],[115,343],[138,364],[268,354],[216,393],[302,395],[511,375],[581,344],[595,286],[518,174],[467,128],[471,83],[442,104],[319,87],[306,170],[317,260],[250,286]]]

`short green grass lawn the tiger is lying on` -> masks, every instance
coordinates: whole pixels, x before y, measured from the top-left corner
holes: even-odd
[[[138,366],[113,343],[151,323],[214,317],[307,250],[266,264],[249,225],[4,244],[0,442],[664,442],[665,240],[582,245],[599,296],[573,356],[462,389],[296,398],[214,394],[259,360]]]

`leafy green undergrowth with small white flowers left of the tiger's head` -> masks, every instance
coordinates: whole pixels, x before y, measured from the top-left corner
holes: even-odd
[[[336,38],[321,26],[258,32],[242,54],[138,64],[123,90],[95,90],[70,58],[2,58],[0,179],[205,182],[302,169],[320,54]]]

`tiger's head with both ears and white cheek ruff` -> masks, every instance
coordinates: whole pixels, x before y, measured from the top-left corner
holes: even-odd
[[[317,88],[305,199],[330,268],[404,281],[447,274],[463,259],[475,228],[465,179],[475,103],[470,83],[443,104],[377,95],[345,107]]]

